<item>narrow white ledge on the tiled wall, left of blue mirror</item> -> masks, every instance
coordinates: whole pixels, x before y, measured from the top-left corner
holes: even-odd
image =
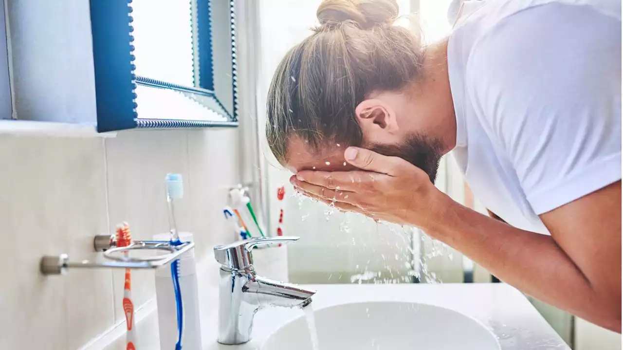
[[[0,135],[112,138],[117,133],[98,133],[95,125],[32,120],[0,120]]]

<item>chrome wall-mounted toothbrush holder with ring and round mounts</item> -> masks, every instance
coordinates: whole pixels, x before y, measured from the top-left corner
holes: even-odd
[[[137,240],[127,247],[115,247],[116,241],[110,235],[98,235],[93,240],[97,252],[110,261],[71,261],[67,254],[46,255],[41,258],[40,271],[44,275],[65,275],[69,268],[157,268],[166,265],[188,250],[194,248],[193,242],[173,245],[166,240]],[[129,250],[164,250],[166,253],[149,257],[115,256],[115,253]]]

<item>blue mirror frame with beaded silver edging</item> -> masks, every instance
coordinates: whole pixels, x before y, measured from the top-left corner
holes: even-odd
[[[235,37],[235,0],[194,0],[197,11],[196,25],[193,30],[209,32],[199,35],[201,48],[199,57],[199,82],[201,87],[185,87],[168,82],[138,77],[135,75],[135,56],[133,55],[132,7],[131,0],[89,0],[91,32],[93,37],[93,65],[95,69],[95,100],[97,103],[97,131],[118,131],[135,128],[205,128],[214,126],[238,126],[238,87],[237,57]],[[214,91],[212,57],[212,21],[211,2],[229,2],[229,20],[231,23],[231,60],[232,60],[232,98],[231,113],[224,108]],[[219,34],[220,35],[220,34]],[[222,34],[226,35],[226,34]],[[196,52],[196,54],[198,54]],[[206,74],[209,72],[209,74]],[[219,115],[227,121],[177,120],[140,118],[136,112],[136,93],[138,85],[183,92],[190,97],[210,98],[221,106]],[[209,109],[206,107],[206,111]]]

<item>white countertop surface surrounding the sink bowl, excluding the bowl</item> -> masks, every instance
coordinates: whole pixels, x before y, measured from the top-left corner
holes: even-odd
[[[504,283],[397,284],[397,285],[307,285],[317,291],[314,310],[365,301],[424,303],[458,311],[489,328],[502,350],[570,350],[563,339],[515,288]],[[266,308],[255,315],[253,339],[239,346],[216,343],[216,315],[202,327],[207,350],[257,350],[278,328],[303,317],[300,309]],[[203,321],[202,321],[203,322]],[[207,326],[207,324],[206,324]],[[207,334],[206,334],[207,333]]]

